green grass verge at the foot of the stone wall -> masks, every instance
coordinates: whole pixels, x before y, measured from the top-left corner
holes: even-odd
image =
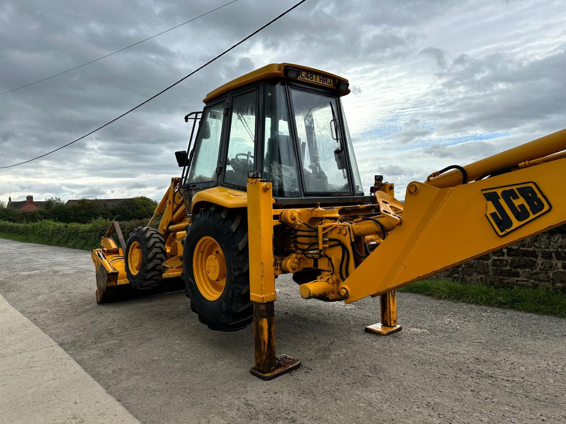
[[[450,279],[430,279],[409,284],[399,291],[419,293],[496,308],[516,309],[534,314],[566,318],[566,296],[544,288],[490,287],[485,284],[462,284]]]

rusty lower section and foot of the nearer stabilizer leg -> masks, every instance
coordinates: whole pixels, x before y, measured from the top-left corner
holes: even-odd
[[[254,302],[255,365],[250,373],[262,380],[272,380],[301,366],[289,355],[275,356],[275,302]]]

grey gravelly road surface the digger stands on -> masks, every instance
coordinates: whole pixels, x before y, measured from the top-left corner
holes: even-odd
[[[382,337],[378,300],[277,284],[277,351],[303,366],[263,382],[251,327],[210,331],[183,293],[97,305],[89,252],[0,239],[0,294],[144,424],[566,422],[563,319],[401,293]]]

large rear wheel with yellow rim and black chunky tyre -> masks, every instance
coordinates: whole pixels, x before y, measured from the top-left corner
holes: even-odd
[[[211,206],[192,216],[183,246],[191,310],[211,330],[235,331],[253,318],[245,210]]]

